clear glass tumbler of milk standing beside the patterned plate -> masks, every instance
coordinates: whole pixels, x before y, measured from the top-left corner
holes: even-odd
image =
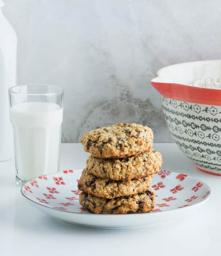
[[[48,84],[9,89],[16,184],[59,171],[64,90]]]

